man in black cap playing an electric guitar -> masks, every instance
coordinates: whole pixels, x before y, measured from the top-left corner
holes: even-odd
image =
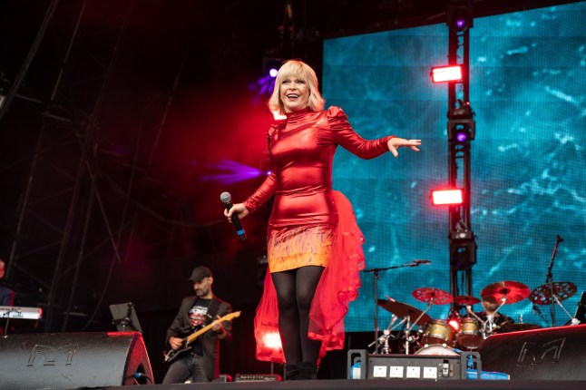
[[[232,312],[232,307],[213,295],[213,276],[210,268],[193,269],[189,281],[193,283],[195,296],[184,297],[177,316],[167,330],[167,346],[178,354],[162,380],[163,384],[210,382],[220,375],[220,340],[230,342],[230,321],[217,319]],[[183,339],[198,329],[211,325],[208,332],[196,338],[189,346]]]

